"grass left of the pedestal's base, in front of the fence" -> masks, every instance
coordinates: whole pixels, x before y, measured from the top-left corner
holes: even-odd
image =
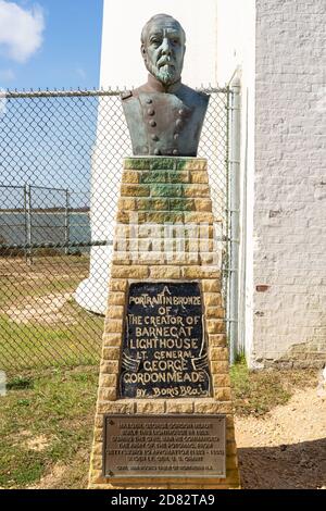
[[[95,367],[9,382],[0,398],[0,487],[30,487],[60,465],[65,470],[57,487],[85,487],[97,384]]]

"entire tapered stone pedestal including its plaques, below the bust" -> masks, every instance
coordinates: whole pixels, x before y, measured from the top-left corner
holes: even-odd
[[[167,297],[170,301],[172,300],[171,303],[181,303],[178,311],[170,308],[164,314],[163,309],[155,309],[156,306],[152,301],[153,295],[150,295],[151,284],[153,288],[156,286],[159,294],[156,297],[160,296],[162,299],[163,296],[164,302]],[[180,284],[184,287],[176,286]],[[197,299],[192,297],[192,302],[202,308],[202,321],[198,320],[200,315],[193,316],[197,317],[196,323],[200,323],[201,329],[196,327],[193,332],[170,331],[171,322],[176,321],[176,317],[179,317],[180,325],[188,324],[188,312],[185,312],[188,307],[187,300],[181,297],[181,289],[188,289],[187,284],[189,284],[189,289],[195,289],[195,295],[196,289],[199,289],[199,295]],[[124,160],[109,286],[89,487],[106,489],[238,488],[239,473],[225,336],[225,312],[221,295],[220,263],[214,247],[213,214],[205,160],[163,157]],[[137,320],[138,316],[130,316],[128,308],[133,300],[135,301],[135,289],[137,291],[137,288],[141,286],[145,286],[145,290],[147,289],[141,297],[149,298],[146,303],[141,301],[143,298],[137,298],[141,308],[138,310],[140,312],[146,310],[147,316],[145,320],[141,317]],[[170,298],[174,289],[179,289],[177,291],[179,298],[176,298],[175,302]],[[133,294],[134,298],[130,298]],[[183,311],[186,314],[185,321]],[[170,325],[166,331],[158,331],[160,335],[166,335],[165,339],[162,338],[164,341],[158,338],[156,331],[147,329],[143,334],[145,329],[141,331],[141,328],[138,331],[139,339],[136,338],[137,333],[133,339],[130,317],[143,326],[145,323],[151,323],[151,317],[159,317],[158,314],[165,317],[162,321]],[[155,321],[152,320],[154,326]],[[191,317],[189,322],[191,323]],[[168,334],[172,336],[170,348],[167,339],[171,336]],[[189,339],[185,340],[183,336],[187,334],[189,334]],[[197,339],[193,336],[197,336]],[[180,349],[177,346],[183,339],[185,357],[181,356],[181,362],[179,361],[177,365],[173,360],[178,359]],[[134,344],[131,346],[128,342]],[[190,345],[191,348],[189,348]],[[142,351],[139,348],[139,353],[137,353],[137,347],[142,347]],[[156,348],[156,351],[153,349],[143,354],[149,347]],[[185,351],[186,348],[189,349]],[[166,361],[166,359],[172,362],[167,364],[162,362],[158,365],[160,360]],[[161,381],[160,378],[165,381],[164,374],[162,376],[165,366],[168,367],[168,378],[175,383],[153,385],[153,381]],[[192,376],[189,376],[191,370],[188,373],[187,367],[192,367]],[[156,371],[154,378],[153,371]],[[174,373],[176,371],[178,371],[177,374]],[[147,376],[138,377],[139,373],[147,373]],[[148,386],[143,384],[147,377],[151,381]],[[135,381],[138,381],[138,384],[135,385]],[[125,385],[126,382],[131,382],[129,387]],[[190,469],[189,471],[185,469],[183,476],[178,452],[174,451],[168,454],[168,448],[166,452],[171,456],[172,465],[174,465],[172,471],[166,464],[165,470],[160,469],[160,462],[158,462],[159,472],[153,473],[153,470],[149,470],[148,476],[143,472],[137,476],[137,473],[140,474],[137,472],[137,463],[134,463],[134,472],[130,472],[129,477],[126,468],[121,468],[121,471],[118,469],[116,473],[108,473],[103,471],[105,414],[109,414],[111,419],[113,416],[113,421],[109,421],[110,424],[114,424],[114,416],[118,420],[118,415],[128,415],[134,422],[137,417],[146,415],[145,424],[147,420],[150,423],[150,416],[159,417],[159,423],[166,417],[172,421],[171,427],[177,423],[175,420],[173,424],[174,416],[177,415],[185,420],[185,424],[189,424],[189,431],[192,428],[192,423],[195,424],[196,421],[198,423],[198,416],[200,419],[202,415],[202,421],[199,421],[202,424],[205,424],[205,417],[208,421],[209,419],[221,420],[226,425],[225,440],[223,440],[225,448],[221,451],[213,449],[212,460],[214,464],[214,456],[222,454],[226,473],[223,476],[212,475],[214,471],[211,473],[210,466],[202,472],[199,469],[195,470],[197,461],[193,453]],[[149,427],[154,426],[151,424]],[[153,432],[152,435],[154,435]],[[141,454],[143,445],[140,444],[142,443],[139,443],[138,447]],[[106,444],[105,449],[110,450]],[[123,445],[122,449],[124,449]],[[123,451],[118,452],[124,456]],[[186,458],[191,460],[189,452]],[[200,459],[199,456],[198,460]],[[155,460],[151,458],[148,465],[152,466],[153,463]],[[176,465],[177,469],[175,469]],[[177,471],[176,477],[173,470]]]

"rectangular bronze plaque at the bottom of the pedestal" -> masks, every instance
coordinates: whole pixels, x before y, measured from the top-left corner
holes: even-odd
[[[225,415],[104,415],[105,477],[226,477]]]

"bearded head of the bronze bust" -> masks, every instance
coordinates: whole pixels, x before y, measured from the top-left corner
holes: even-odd
[[[151,17],[141,32],[141,54],[147,70],[168,86],[181,77],[186,51],[185,30],[167,14]]]

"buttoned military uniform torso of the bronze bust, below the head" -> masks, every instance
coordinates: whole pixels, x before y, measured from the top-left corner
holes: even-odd
[[[135,155],[197,157],[210,96],[149,75],[122,99]]]

